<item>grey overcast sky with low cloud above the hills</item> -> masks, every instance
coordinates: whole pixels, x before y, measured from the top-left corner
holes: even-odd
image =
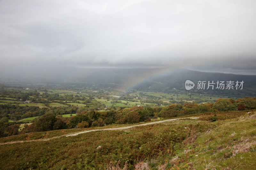
[[[0,66],[256,75],[255,0],[0,0]]]

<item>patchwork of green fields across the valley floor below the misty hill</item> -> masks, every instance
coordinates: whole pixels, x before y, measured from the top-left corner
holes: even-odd
[[[23,89],[23,88],[5,88],[6,90],[14,90],[14,91],[20,91],[20,92],[35,92],[35,89]],[[124,92],[120,92],[120,91],[116,91],[113,89],[105,89],[104,91],[100,91],[98,89],[95,89],[95,91],[97,92],[93,92],[94,88],[86,88],[86,87],[79,87],[79,88],[72,88],[72,89],[44,89],[44,90],[37,90],[37,92],[40,93],[40,95],[42,95],[43,93],[47,93],[48,95],[60,95],[60,96],[64,96],[64,95],[73,95],[76,96],[76,98],[73,101],[76,102],[80,102],[80,103],[76,103],[71,101],[70,99],[66,99],[68,100],[68,104],[77,106],[77,107],[83,107],[85,106],[85,104],[82,104],[84,101],[84,98],[91,98],[92,96],[97,96],[99,99],[93,99],[93,100],[97,100],[98,102],[101,102],[102,104],[105,104],[106,106],[116,106],[116,107],[134,107],[134,106],[157,106],[157,104],[153,104],[153,103],[148,103],[147,100],[151,100],[152,101],[156,101],[155,103],[159,103],[163,104],[163,105],[170,105],[170,104],[176,104],[176,103],[180,103],[181,101],[183,102],[196,102],[196,103],[207,103],[207,102],[215,102],[216,100],[218,100],[219,98],[223,98],[223,99],[228,99],[228,98],[234,98],[234,94],[239,95],[236,91],[233,94],[233,91],[231,92],[226,92],[225,95],[221,95],[218,93],[215,94],[208,94],[207,92],[202,92],[202,94],[197,93],[197,92],[187,92],[184,90],[176,90],[176,89],[169,89],[168,92],[156,92],[156,91],[140,91],[140,90],[136,90],[136,89],[131,89],[131,91],[129,93],[124,93]],[[80,93],[81,92],[81,93]],[[107,94],[107,95],[106,95]],[[77,97],[77,95],[79,97]],[[111,103],[111,101],[114,100],[114,98],[118,99],[118,97],[116,96],[120,96],[120,98],[122,96],[126,96],[129,95],[132,98],[129,98],[130,101],[126,101],[126,100],[121,100],[122,103]],[[6,97],[10,97],[8,95],[5,95]],[[34,96],[34,95],[33,95]],[[30,96],[31,98],[36,98]],[[43,95],[42,95],[43,96]],[[103,97],[105,99],[100,99],[100,97]],[[107,100],[107,98],[109,97],[109,100]],[[15,101],[12,101],[14,98],[8,98],[10,100],[4,100],[4,97],[1,97],[3,100],[0,100],[0,104],[6,104],[6,103],[14,103]],[[1,99],[0,98],[0,99]],[[49,100],[47,99],[48,97],[43,96],[42,98],[40,98],[41,100]],[[5,98],[7,99],[7,98]],[[12,100],[11,100],[12,99]],[[60,101],[58,100],[58,98],[54,97],[53,99],[56,99],[55,101]],[[63,100],[63,99],[61,99]],[[65,100],[65,98],[64,98]],[[54,100],[50,100],[50,101],[54,101]],[[128,103],[127,103],[128,102]],[[163,103],[165,102],[165,103]],[[127,105],[126,105],[127,103]],[[143,104],[141,104],[143,103]],[[30,103],[30,104],[19,104],[20,106],[39,106],[40,108],[46,107],[43,104],[35,104],[35,103]],[[50,107],[66,107],[65,104],[60,104],[60,103],[49,103]]]

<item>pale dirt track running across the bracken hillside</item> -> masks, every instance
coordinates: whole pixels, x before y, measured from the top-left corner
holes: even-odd
[[[61,136],[57,136],[57,137],[46,138],[46,139],[36,139],[36,140],[27,140],[27,141],[12,141],[12,142],[0,143],[0,145],[3,145],[3,144],[16,144],[16,143],[23,143],[23,142],[48,141],[48,140],[52,140],[52,139],[56,139],[56,138],[60,138],[60,137],[76,136],[76,135],[79,135],[79,134],[82,134],[82,133],[88,133],[88,132],[93,132],[93,131],[99,131],[99,130],[121,130],[121,129],[133,128],[133,127],[136,127],[136,126],[146,126],[146,125],[150,125],[150,124],[156,124],[156,123],[162,123],[162,122],[168,122],[168,121],[175,121],[175,120],[179,120],[179,119],[198,119],[198,117],[186,117],[186,118],[178,118],[178,119],[169,119],[169,120],[150,122],[150,123],[134,125],[134,126],[126,126],[126,127],[122,127],[122,128],[95,129],[95,130],[88,130],[88,131],[83,131],[83,132],[78,132],[78,133],[69,133],[69,134],[65,134],[65,135],[61,135]]]

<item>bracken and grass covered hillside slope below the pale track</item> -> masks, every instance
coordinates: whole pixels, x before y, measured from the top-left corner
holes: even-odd
[[[177,120],[5,144],[0,145],[0,167],[105,170],[107,164],[124,167],[128,161],[127,169],[256,169],[255,121],[250,113],[217,122]],[[44,138],[48,132],[37,133]]]

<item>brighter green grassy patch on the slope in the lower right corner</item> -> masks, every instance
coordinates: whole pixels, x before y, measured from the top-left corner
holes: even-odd
[[[196,169],[203,169],[206,166],[255,169],[256,164],[253,160],[256,158],[256,152],[253,148],[256,145],[256,128],[252,126],[255,124],[255,118],[236,118],[232,121],[214,122],[213,124],[216,128],[203,133],[195,141],[200,149],[193,154],[191,161],[197,159],[196,161],[201,163],[201,165],[197,164]],[[245,149],[247,147],[249,150]],[[196,159],[195,155],[198,155]]]

